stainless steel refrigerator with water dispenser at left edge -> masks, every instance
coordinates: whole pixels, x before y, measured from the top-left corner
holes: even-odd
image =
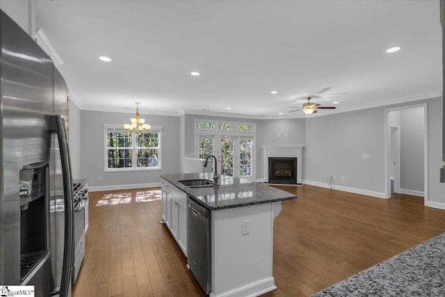
[[[70,296],[73,195],[67,86],[0,11],[0,285]]]

